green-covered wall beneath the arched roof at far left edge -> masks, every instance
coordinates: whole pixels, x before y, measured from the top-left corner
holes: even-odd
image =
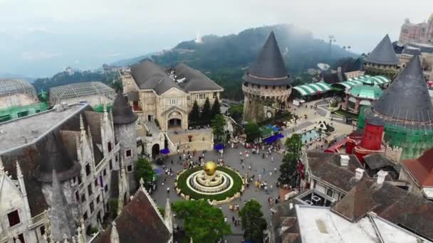
[[[48,107],[49,106],[47,102],[41,102],[36,104],[28,104],[21,107],[8,107],[5,109],[0,109],[0,122],[44,112],[48,109]]]

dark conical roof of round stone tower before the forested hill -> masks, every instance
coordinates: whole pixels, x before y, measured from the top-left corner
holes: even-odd
[[[256,62],[251,65],[244,80],[256,85],[288,85],[289,79],[283,55],[273,31],[264,44]]]

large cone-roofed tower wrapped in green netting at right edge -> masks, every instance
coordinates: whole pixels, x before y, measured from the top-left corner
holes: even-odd
[[[364,110],[358,126],[364,128],[365,119],[375,116],[385,122],[385,141],[402,148],[402,159],[417,158],[433,147],[433,105],[418,56],[410,60],[374,107]]]

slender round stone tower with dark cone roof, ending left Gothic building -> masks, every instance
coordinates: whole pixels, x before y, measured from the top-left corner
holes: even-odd
[[[135,126],[137,115],[132,112],[127,103],[127,97],[118,92],[113,103],[113,124],[115,143],[120,143],[120,168],[125,168],[130,183],[130,192],[137,190],[134,172],[137,162],[137,128]]]

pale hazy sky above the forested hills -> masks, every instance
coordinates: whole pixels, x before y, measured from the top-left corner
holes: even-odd
[[[370,52],[432,0],[0,0],[0,75],[47,77],[169,49],[181,41],[291,23],[315,38]]]

